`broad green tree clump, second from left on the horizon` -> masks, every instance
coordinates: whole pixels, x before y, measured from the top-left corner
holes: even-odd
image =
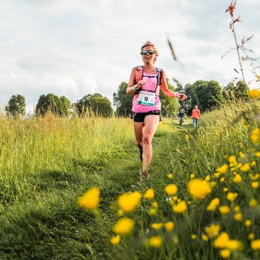
[[[36,113],[44,116],[50,110],[55,116],[68,116],[70,101],[65,96],[58,97],[55,94],[42,94],[36,105]]]

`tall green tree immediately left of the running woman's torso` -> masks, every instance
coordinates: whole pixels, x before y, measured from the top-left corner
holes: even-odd
[[[131,114],[133,96],[127,94],[127,82],[122,81],[117,92],[113,93],[113,103],[118,116],[129,116]]]

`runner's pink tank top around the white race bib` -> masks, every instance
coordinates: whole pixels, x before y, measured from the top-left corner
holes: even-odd
[[[151,77],[151,76],[156,76],[156,75],[157,75],[157,71],[154,74],[146,74],[144,72],[142,79],[146,80],[147,84],[142,86],[142,90],[155,91],[157,86],[157,77]],[[134,94],[132,111],[138,113],[147,113],[153,110],[161,110],[161,101],[159,99],[159,96],[157,95],[159,95],[159,86],[157,87],[157,91],[155,95],[155,105],[142,105],[142,104],[138,104],[138,94]]]

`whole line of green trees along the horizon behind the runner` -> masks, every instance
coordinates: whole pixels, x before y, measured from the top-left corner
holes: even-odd
[[[167,79],[167,86],[172,91],[185,93],[187,99],[183,102],[177,101],[165,96],[160,92],[161,114],[162,116],[172,116],[180,107],[185,109],[187,115],[190,115],[194,105],[198,105],[200,112],[215,109],[222,103],[227,101],[240,102],[248,100],[248,86],[244,81],[238,81],[236,84],[231,82],[224,88],[220,86],[218,81],[198,80],[193,84],[187,83],[183,86],[177,83],[177,87],[171,85]],[[70,103],[66,96],[56,96],[55,94],[42,94],[38,99],[34,114],[44,116],[51,111],[55,116],[70,116],[77,114],[84,116],[86,114],[94,114],[104,117],[112,115],[129,116],[131,114],[133,96],[127,94],[127,82],[122,81],[116,92],[113,93],[113,105],[107,97],[99,93],[87,94],[75,103]],[[5,106],[5,112],[8,116],[25,116],[25,97],[21,94],[14,94]]]

